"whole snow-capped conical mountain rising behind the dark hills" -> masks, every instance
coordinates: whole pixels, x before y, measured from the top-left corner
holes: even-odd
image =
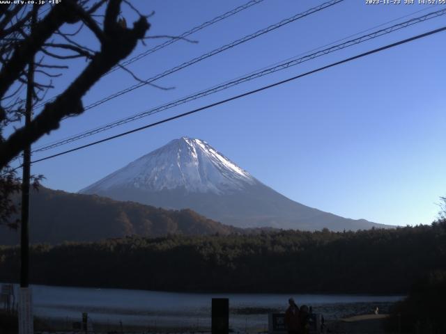
[[[294,202],[206,141],[188,137],[167,143],[79,192],[166,209],[189,208],[240,228],[339,231],[390,227]]]

